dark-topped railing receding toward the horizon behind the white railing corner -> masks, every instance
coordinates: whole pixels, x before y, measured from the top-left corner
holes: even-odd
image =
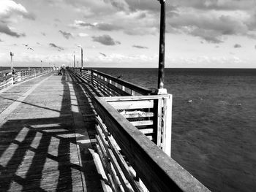
[[[103,96],[149,95],[152,90],[92,69],[70,68],[102,92]]]

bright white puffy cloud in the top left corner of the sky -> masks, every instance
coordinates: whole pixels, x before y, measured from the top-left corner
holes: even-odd
[[[35,15],[29,13],[22,4],[17,4],[12,0],[0,1],[0,18],[6,23],[17,22],[17,18],[35,20]]]

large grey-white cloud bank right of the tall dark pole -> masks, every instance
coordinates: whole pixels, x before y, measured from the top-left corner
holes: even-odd
[[[181,9],[169,21],[172,28],[170,32],[190,34],[207,42],[219,43],[227,35],[252,36],[245,22],[248,17],[244,12],[196,12],[193,9]]]

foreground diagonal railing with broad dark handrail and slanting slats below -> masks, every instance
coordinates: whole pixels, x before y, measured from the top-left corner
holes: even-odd
[[[138,180],[132,177],[130,169],[135,170],[136,178],[139,177],[149,191],[208,191],[138,128],[132,126],[132,123],[108,103],[110,99],[112,98],[96,97],[94,107],[99,115],[97,148],[105,171],[109,172],[113,191],[129,191],[130,186],[133,191],[143,191]],[[125,158],[120,154],[125,155]],[[117,173],[118,170],[122,172]],[[127,180],[129,185],[125,183]]]

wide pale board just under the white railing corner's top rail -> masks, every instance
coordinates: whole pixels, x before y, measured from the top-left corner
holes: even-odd
[[[143,101],[111,101],[108,102],[116,110],[135,110],[153,108],[154,102],[152,100]]]

